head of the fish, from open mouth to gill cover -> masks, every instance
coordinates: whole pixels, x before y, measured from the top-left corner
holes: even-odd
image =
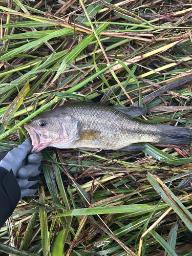
[[[27,125],[24,125],[32,140],[31,153],[37,153],[45,147],[57,143],[73,141],[77,134],[78,121],[67,114],[42,114]]]

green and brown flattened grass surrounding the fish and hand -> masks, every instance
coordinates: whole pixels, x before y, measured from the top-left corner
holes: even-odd
[[[74,101],[139,105],[191,129],[191,3],[1,1],[0,151]],[[0,255],[191,255],[191,147],[46,148],[38,193],[0,229]]]

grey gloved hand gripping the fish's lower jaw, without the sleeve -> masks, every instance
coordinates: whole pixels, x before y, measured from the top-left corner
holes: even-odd
[[[30,154],[32,148],[31,138],[29,138],[9,151],[0,162],[0,166],[9,172],[13,170],[21,191],[20,199],[33,196],[38,189],[42,155],[40,152]]]

